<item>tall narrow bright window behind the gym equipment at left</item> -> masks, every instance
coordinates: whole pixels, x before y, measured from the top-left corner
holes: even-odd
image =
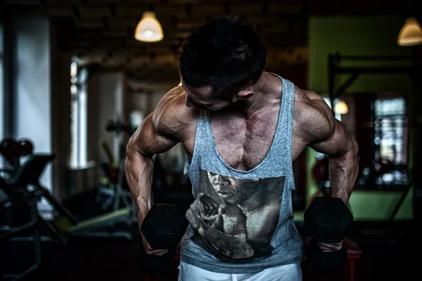
[[[79,83],[81,68],[73,61],[70,64],[71,94],[71,168],[87,166],[87,85]]]

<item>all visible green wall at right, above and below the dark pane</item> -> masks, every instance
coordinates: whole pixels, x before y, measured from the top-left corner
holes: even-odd
[[[328,54],[343,55],[410,55],[411,49],[397,45],[397,35],[404,18],[393,16],[366,17],[313,17],[309,19],[309,89],[319,94],[327,92]],[[345,64],[346,65],[346,64]],[[347,65],[386,65],[385,62],[353,62]],[[391,65],[391,63],[388,63]],[[403,63],[402,63],[403,65]],[[347,76],[338,78],[337,82]],[[406,75],[362,75],[347,92],[394,91],[411,92],[411,82]],[[308,151],[307,202],[317,187],[312,179],[314,151]],[[411,155],[411,154],[410,154]],[[402,204],[396,220],[412,218],[412,194]],[[355,191],[350,198],[354,220],[385,220],[390,217],[402,192]],[[297,219],[302,214],[297,214]]]

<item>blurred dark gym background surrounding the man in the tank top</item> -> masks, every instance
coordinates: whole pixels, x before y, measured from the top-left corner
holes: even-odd
[[[417,280],[422,220],[422,4],[378,0],[0,1],[0,280],[177,280],[141,245],[127,142],[180,83],[179,50],[219,15],[257,26],[265,70],[324,97],[359,144],[347,260],[303,280]],[[162,39],[135,38],[150,16]],[[410,31],[409,31],[410,30]],[[414,36],[414,43],[405,37]],[[408,42],[408,43],[406,43]],[[193,202],[181,144],[155,156],[155,202]],[[293,163],[295,225],[330,194],[327,158]]]

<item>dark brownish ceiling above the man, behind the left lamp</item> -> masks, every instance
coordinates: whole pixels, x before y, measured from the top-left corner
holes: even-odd
[[[382,0],[6,0],[6,5],[36,4],[56,22],[58,43],[82,63],[124,69],[137,79],[177,75],[177,55],[186,36],[219,15],[238,15],[260,30],[269,63],[307,61],[309,15],[405,13],[402,5]],[[144,11],[155,11],[164,39],[143,43],[134,29]]]

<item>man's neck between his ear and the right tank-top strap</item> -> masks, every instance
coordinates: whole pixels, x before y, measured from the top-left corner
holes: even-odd
[[[249,99],[236,101],[234,107],[245,115],[245,119],[252,118],[256,113],[264,110],[274,101],[278,102],[281,94],[281,80],[267,72],[262,73],[258,82],[252,86],[253,96]]]

